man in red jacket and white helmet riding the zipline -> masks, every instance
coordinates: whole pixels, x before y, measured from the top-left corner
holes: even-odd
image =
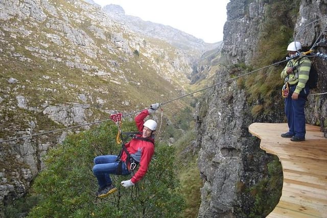
[[[159,108],[159,104],[152,104],[149,109],[143,110],[135,117],[135,124],[139,134],[135,135],[123,146],[121,157],[118,155],[103,155],[94,159],[93,174],[98,179],[99,189],[97,196],[104,198],[117,190],[111,181],[110,174],[131,174],[132,163],[139,164],[137,172],[130,180],[122,181],[125,188],[134,185],[141,180],[148,171],[149,163],[154,154],[154,135],[157,123],[153,119],[144,119]],[[125,147],[125,148],[124,148]]]

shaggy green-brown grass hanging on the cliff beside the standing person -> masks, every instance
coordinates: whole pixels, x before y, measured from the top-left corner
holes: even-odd
[[[299,1],[268,1],[268,3],[265,22],[259,36],[258,51],[251,61],[251,66],[244,63],[232,66],[231,77],[285,60],[287,44],[293,40],[295,23],[293,17],[296,17]],[[271,106],[282,101],[281,94],[279,94],[283,86],[280,72],[285,65],[286,61],[281,62],[238,81],[238,87],[245,88],[247,91],[248,104],[255,105],[251,110],[254,117],[259,114],[269,114],[274,108]],[[262,110],[263,108],[265,110]]]

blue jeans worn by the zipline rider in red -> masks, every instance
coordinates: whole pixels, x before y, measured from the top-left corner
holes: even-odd
[[[98,184],[100,188],[104,188],[107,185],[111,185],[112,181],[109,174],[117,174],[118,161],[117,155],[103,155],[98,156],[94,159],[93,174],[98,179]],[[128,169],[126,164],[122,163],[122,175],[128,175]]]

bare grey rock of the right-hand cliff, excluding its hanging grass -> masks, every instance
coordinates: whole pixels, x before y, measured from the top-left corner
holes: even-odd
[[[267,40],[262,35],[267,26],[267,14],[271,12],[268,9],[273,1],[248,2],[231,0],[228,3],[223,51],[231,63],[256,65],[257,51],[262,49],[260,46]],[[287,1],[289,2],[292,1]],[[274,17],[282,20],[285,26],[293,27],[293,37],[303,44],[304,49],[309,49],[320,33],[325,34],[326,19],[319,18],[327,13],[327,3],[304,0],[294,1],[292,4],[294,3],[299,10],[293,17],[290,14],[286,17],[287,12],[285,16],[275,12]],[[316,21],[310,25],[314,20]],[[282,34],[280,27],[274,28]],[[326,54],[324,43],[315,49]],[[277,51],[267,51],[267,54],[269,52]],[[273,61],[276,60],[271,60],[270,63]],[[319,74],[318,88],[313,93],[325,92],[327,80],[323,72],[327,69],[326,61],[317,57],[312,58],[312,61]],[[272,73],[279,75],[279,71]],[[217,71],[214,84],[227,79],[230,79],[227,69]],[[281,87],[282,85],[283,81]],[[279,94],[279,90],[277,92]],[[307,123],[320,126],[327,137],[327,96],[310,95],[308,100]],[[259,103],[260,99],[251,103],[246,90],[237,81],[215,87],[198,103],[197,143],[201,147],[199,167],[203,179],[199,217],[248,217],[251,208],[253,209],[255,195],[245,193],[244,190],[268,178],[267,164],[273,157],[260,150],[259,140],[248,133],[248,126],[253,122],[286,122],[282,97],[273,103],[272,110],[265,109],[269,110],[268,113],[253,116],[251,108]],[[269,192],[265,194],[269,196]]]

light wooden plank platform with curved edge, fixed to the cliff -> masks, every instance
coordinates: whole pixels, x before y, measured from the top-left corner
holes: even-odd
[[[327,217],[327,139],[317,126],[306,130],[306,141],[293,142],[281,137],[287,124],[249,126],[260,148],[278,156],[283,167],[282,197],[267,217]]]

